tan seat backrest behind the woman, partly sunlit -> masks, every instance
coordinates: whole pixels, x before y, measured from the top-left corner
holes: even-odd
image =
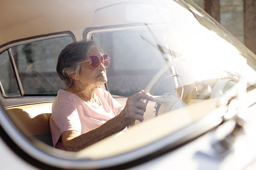
[[[28,138],[35,137],[52,146],[49,118],[52,102],[36,103],[6,108],[6,113]]]

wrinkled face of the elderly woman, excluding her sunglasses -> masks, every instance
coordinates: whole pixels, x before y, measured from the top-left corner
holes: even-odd
[[[97,56],[99,57],[100,61],[102,58],[99,49],[96,47],[91,48],[85,60],[88,60],[89,56]],[[108,81],[104,65],[100,63],[98,68],[92,68],[89,61],[81,63],[78,78],[83,86],[99,87]]]

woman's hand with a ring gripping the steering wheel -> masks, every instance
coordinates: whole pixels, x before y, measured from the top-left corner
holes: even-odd
[[[124,110],[117,116],[125,126],[130,125],[136,119],[140,122],[144,120],[146,104],[141,99],[152,100],[153,98],[150,94],[145,94],[144,91],[128,97]]]

